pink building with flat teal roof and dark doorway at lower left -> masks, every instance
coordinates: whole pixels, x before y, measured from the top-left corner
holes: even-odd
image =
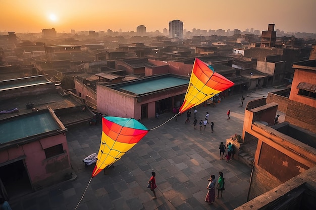
[[[5,199],[71,178],[67,129],[50,108],[0,121],[0,187]]]

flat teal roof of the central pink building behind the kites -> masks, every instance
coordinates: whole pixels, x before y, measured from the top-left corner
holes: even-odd
[[[188,84],[189,80],[187,79],[163,77],[155,80],[120,86],[119,89],[134,93],[135,95],[140,95]]]

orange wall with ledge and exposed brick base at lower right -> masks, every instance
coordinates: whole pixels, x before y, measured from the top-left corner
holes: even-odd
[[[316,164],[316,149],[286,134],[258,122],[254,122],[246,131],[258,138],[249,199]]]

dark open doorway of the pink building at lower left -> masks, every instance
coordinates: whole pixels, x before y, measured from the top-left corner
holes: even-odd
[[[17,198],[33,192],[24,160],[18,160],[0,167],[1,196]]]

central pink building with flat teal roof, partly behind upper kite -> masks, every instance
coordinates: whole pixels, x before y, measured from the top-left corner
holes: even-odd
[[[129,82],[97,84],[97,111],[106,115],[153,118],[155,113],[179,110],[189,78],[171,74],[152,76]]]

